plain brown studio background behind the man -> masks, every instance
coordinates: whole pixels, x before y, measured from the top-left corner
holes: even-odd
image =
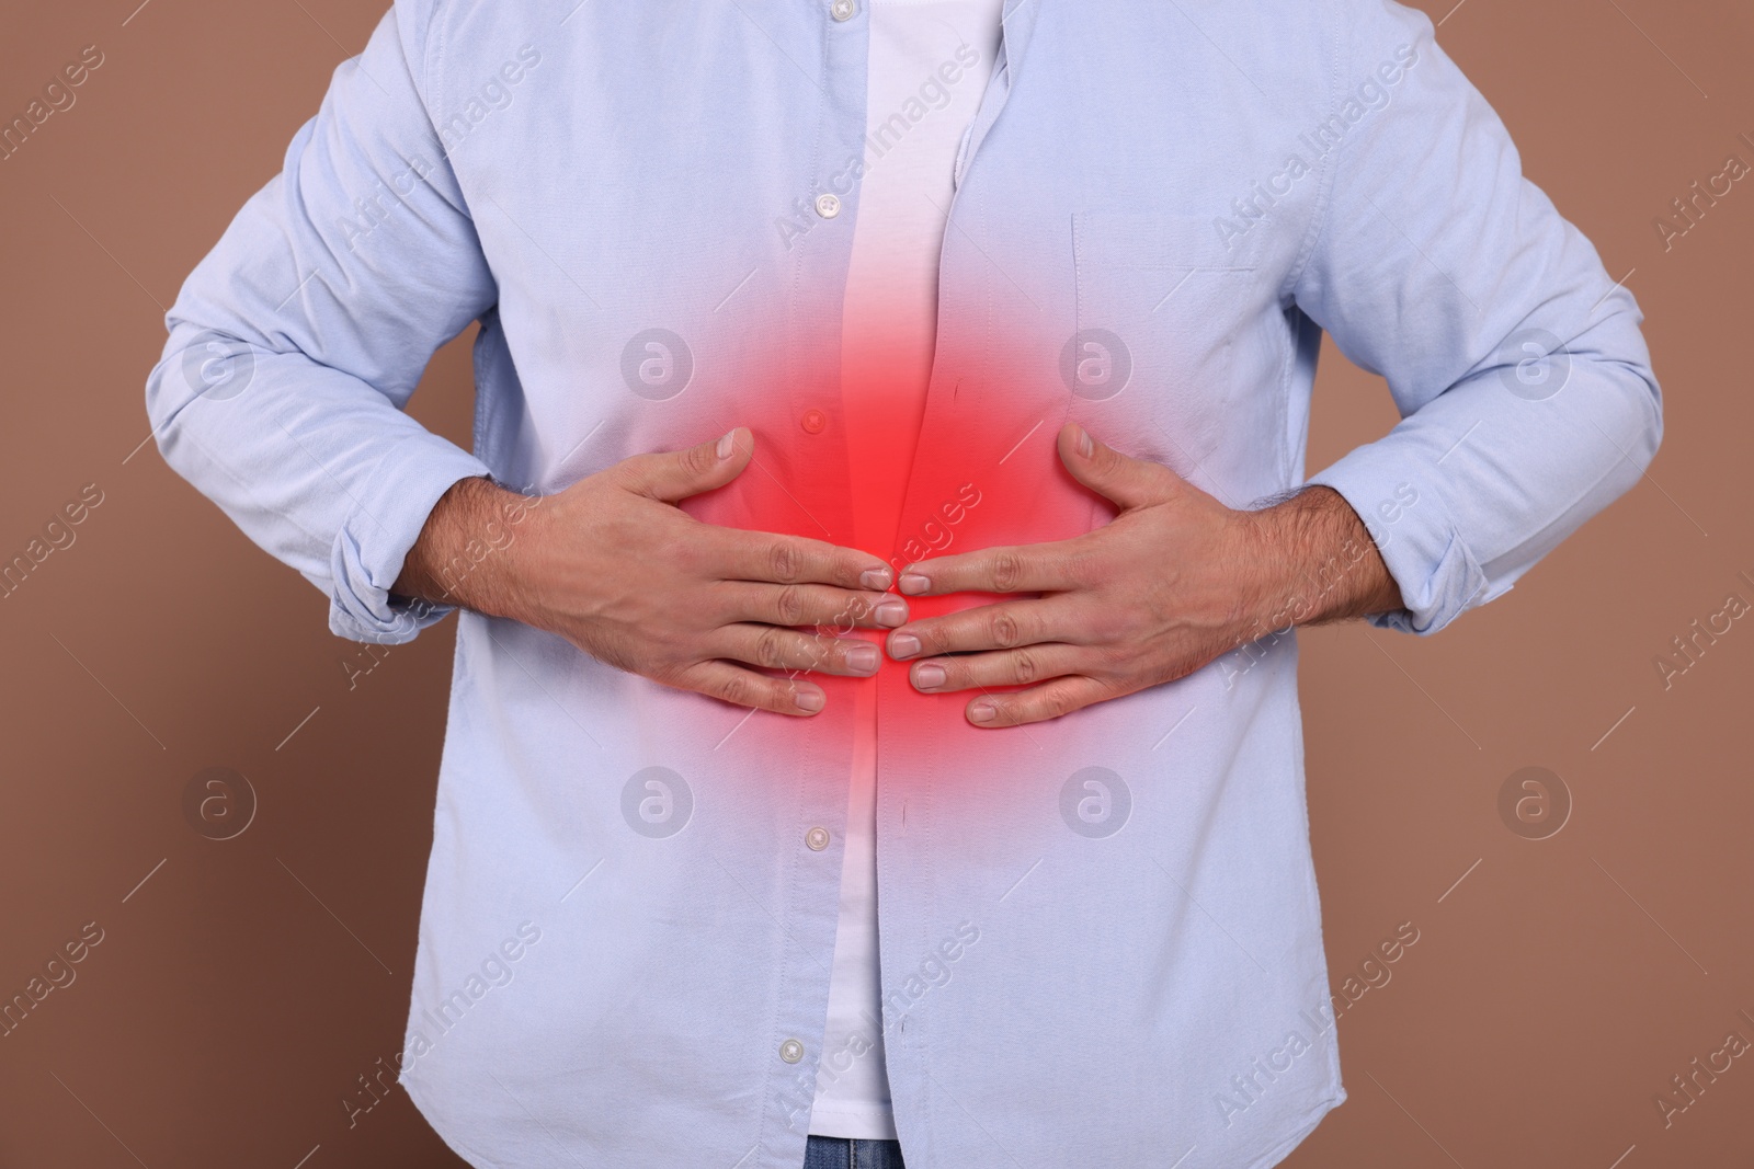
[[[1628,498],[1442,636],[1303,636],[1333,980],[1400,922],[1421,939],[1342,1020],[1351,1101],[1287,1164],[1754,1165],[1754,1055],[1672,1127],[1652,1104],[1731,1029],[1754,1039],[1754,620],[1668,691],[1652,666],[1728,592],[1754,601],[1754,179],[1668,252],[1652,228],[1726,154],[1754,161],[1754,18],[1451,2],[1426,5],[1440,42],[1528,174],[1631,270],[1668,435]],[[107,58],[0,163],[0,557],[103,491],[0,599],[0,997],[105,931],[0,1039],[0,1165],[460,1165],[400,1090],[353,1129],[340,1104],[400,1046],[453,624],[349,689],[340,662],[368,659],[324,599],[153,445],[128,457],[163,308],[381,7],[135,4],[9,4],[0,37],[7,119],[81,47]],[[467,358],[442,351],[414,407],[465,445]],[[1316,401],[1312,468],[1394,421],[1331,351]],[[260,794],[237,840],[184,822],[209,766]],[[1549,840],[1500,818],[1522,766],[1575,801]]]

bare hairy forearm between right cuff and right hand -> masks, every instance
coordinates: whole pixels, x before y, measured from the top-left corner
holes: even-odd
[[[1249,517],[1263,633],[1403,608],[1400,585],[1338,491],[1308,487]]]

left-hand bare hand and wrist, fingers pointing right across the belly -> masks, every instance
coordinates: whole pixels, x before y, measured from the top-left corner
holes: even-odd
[[[791,626],[895,627],[907,601],[886,596],[889,566],[875,556],[717,528],[675,507],[737,478],[752,454],[740,426],[535,501],[465,478],[426,519],[391,594],[510,617],[682,691],[816,713],[819,685],[749,666],[873,675],[881,654],[870,641]],[[510,538],[500,517],[516,524]]]

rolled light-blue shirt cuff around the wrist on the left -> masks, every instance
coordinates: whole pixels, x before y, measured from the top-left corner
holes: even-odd
[[[389,585],[402,575],[402,563],[438,498],[475,475],[489,475],[488,464],[437,435],[410,435],[384,454],[335,536],[330,633],[402,645],[456,608],[391,605]]]

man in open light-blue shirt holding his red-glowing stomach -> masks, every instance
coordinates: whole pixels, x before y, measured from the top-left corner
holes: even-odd
[[[165,457],[461,608],[402,1081],[475,1165],[1270,1165],[1345,1099],[1293,626],[1636,482],[1640,314],[1384,0],[398,0]],[[470,321],[474,452],[400,412]],[[1321,331],[1403,421],[1305,484]]]

